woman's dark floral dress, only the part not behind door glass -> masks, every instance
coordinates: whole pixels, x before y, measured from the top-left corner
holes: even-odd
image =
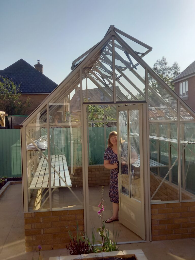
[[[107,148],[104,153],[104,160],[110,161],[110,164],[117,162],[117,154],[112,151],[112,148]],[[110,190],[109,198],[111,202],[119,203],[119,187],[118,187],[118,169],[110,170]]]

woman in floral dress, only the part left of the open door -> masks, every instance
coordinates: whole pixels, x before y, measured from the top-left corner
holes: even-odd
[[[110,190],[109,198],[113,206],[113,215],[106,220],[106,223],[117,221],[119,212],[119,191],[118,191],[118,158],[117,158],[117,133],[110,132],[108,136],[108,148],[104,153],[104,167],[110,169]]]

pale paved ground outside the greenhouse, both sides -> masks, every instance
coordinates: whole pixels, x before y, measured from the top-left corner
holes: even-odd
[[[0,198],[0,259],[38,260],[38,252],[25,253],[22,185],[11,185]],[[148,260],[194,260],[195,238],[119,245],[120,250],[142,249]],[[66,249],[42,251],[44,260],[67,255]]]

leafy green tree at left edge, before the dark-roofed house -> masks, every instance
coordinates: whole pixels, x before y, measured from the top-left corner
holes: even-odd
[[[0,108],[8,115],[23,115],[31,106],[29,97],[26,101],[20,101],[22,95],[20,85],[7,77],[0,76]]]

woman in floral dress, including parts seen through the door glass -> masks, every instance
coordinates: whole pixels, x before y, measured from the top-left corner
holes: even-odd
[[[122,174],[128,174],[128,159],[127,159],[127,143],[121,140],[121,171]],[[122,159],[123,158],[123,159]],[[131,159],[132,164],[138,159],[138,155],[134,148],[131,146]],[[117,221],[119,213],[119,190],[118,190],[118,155],[117,155],[117,133],[112,131],[108,136],[108,148],[104,153],[104,167],[110,169],[110,189],[109,198],[113,206],[113,215],[105,222],[110,223]],[[133,166],[132,166],[133,168]],[[133,170],[132,170],[133,177]]]

